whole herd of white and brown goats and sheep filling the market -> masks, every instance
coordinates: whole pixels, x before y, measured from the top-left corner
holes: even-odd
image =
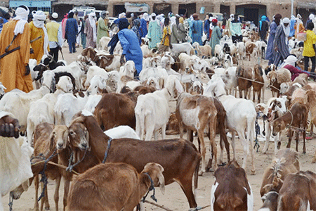
[[[263,175],[261,211],[316,210],[316,174],[300,171],[298,159],[300,134],[305,153],[308,122],[316,125],[316,83],[306,74],[292,82],[289,70],[262,67],[265,42],[256,32],[243,35],[244,41],[237,44],[224,36],[214,57],[209,45],[173,44],[170,52],[160,54],[143,44],[139,79],[133,77],[133,61],[119,63],[119,45],[114,55],[89,47],[70,64],[56,63],[51,56],[44,56],[39,65],[30,60],[36,89],[4,94],[0,87],[0,108],[19,120],[21,132],[34,147],[34,177],[28,182],[34,180],[34,209],[49,208],[47,188],[41,205],[37,202],[41,175],[44,186],[47,178],[55,180],[56,210],[61,178],[64,210],[143,210],[146,193],[156,186],[164,191],[174,181],[190,210],[199,210],[193,189],[198,176],[213,168],[211,210],[253,210],[247,158],[251,154],[250,170],[256,174],[254,143],[263,139],[266,153],[273,139],[275,159]],[[300,59],[303,49],[295,48],[295,40],[289,44]],[[266,87],[273,97],[263,103]],[[289,143],[280,149],[284,132]],[[166,139],[171,133],[180,134],[180,139]],[[192,143],[195,134],[198,147]],[[289,149],[294,134],[296,151]],[[241,167],[236,135],[244,151]],[[209,156],[204,136],[210,141]],[[224,148],[228,165],[219,167],[225,160]],[[315,161],[316,154],[311,162]],[[22,184],[11,196],[20,198],[28,185]]]

